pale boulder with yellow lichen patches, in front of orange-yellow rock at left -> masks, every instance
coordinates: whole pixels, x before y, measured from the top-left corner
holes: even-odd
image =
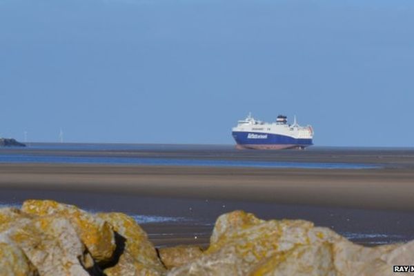
[[[39,275],[88,276],[92,258],[68,219],[37,217],[30,224],[11,228],[8,238],[16,244]]]

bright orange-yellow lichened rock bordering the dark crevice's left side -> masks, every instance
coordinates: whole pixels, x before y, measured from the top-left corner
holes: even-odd
[[[112,261],[116,248],[115,235],[110,224],[103,219],[76,206],[51,200],[27,200],[21,210],[38,216],[57,215],[69,219],[95,261],[99,264]]]

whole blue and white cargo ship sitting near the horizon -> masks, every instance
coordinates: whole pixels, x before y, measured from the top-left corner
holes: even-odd
[[[285,148],[304,149],[313,145],[312,126],[299,126],[296,117],[288,124],[287,117],[277,116],[273,123],[255,120],[249,113],[246,119],[238,121],[232,128],[236,148],[280,150]]]

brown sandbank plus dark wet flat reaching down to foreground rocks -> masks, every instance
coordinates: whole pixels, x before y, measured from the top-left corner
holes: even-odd
[[[89,210],[187,218],[144,224],[157,246],[205,246],[215,218],[235,209],[264,219],[310,219],[339,233],[365,233],[355,238],[361,244],[400,242],[414,238],[410,166],[327,170],[0,164],[0,201],[45,198]],[[364,238],[370,233],[373,239]]]

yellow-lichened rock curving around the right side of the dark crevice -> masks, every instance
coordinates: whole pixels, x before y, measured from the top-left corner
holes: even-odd
[[[119,262],[106,268],[106,275],[164,275],[166,270],[157,256],[157,251],[135,219],[122,213],[101,213],[97,216],[108,221],[125,239]]]

